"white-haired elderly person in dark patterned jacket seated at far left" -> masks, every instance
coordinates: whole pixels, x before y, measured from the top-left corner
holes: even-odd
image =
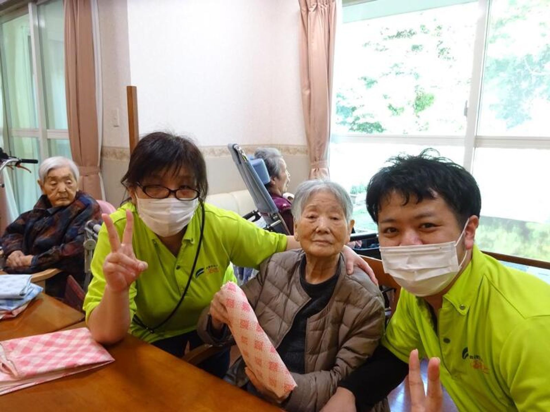
[[[2,236],[8,273],[62,272],[46,280],[46,293],[62,297],[67,276],[84,282],[84,226],[100,220],[100,207],[78,190],[78,167],[70,159],[51,157],[38,169],[42,196],[32,210],[10,224]]]

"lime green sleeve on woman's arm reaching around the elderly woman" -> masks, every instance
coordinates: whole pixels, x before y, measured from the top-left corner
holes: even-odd
[[[230,260],[237,266],[258,269],[263,260],[287,249],[287,236],[268,232],[239,216],[226,230]]]

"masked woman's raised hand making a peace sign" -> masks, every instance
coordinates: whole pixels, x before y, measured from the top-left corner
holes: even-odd
[[[122,235],[122,243],[120,243],[111,217],[108,214],[102,214],[101,217],[107,227],[109,243],[111,243],[111,253],[103,262],[103,275],[107,286],[113,292],[127,291],[141,272],[147,269],[146,262],[136,259],[132,247],[134,216],[130,210],[126,210],[126,226]]]

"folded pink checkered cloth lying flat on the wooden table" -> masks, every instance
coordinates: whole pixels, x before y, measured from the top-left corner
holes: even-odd
[[[0,395],[114,361],[86,327],[0,342]]]

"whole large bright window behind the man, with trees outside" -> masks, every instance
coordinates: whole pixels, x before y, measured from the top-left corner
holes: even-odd
[[[549,0],[378,0],[343,8],[331,176],[374,231],[365,186],[433,147],[482,192],[482,249],[550,260]]]

